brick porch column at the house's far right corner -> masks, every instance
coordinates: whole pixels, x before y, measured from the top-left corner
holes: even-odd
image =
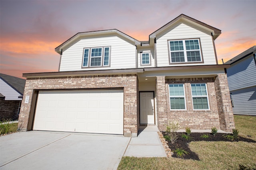
[[[220,118],[220,129],[226,132],[232,132],[232,129],[235,128],[235,123],[227,75],[218,74],[215,77],[214,85]]]

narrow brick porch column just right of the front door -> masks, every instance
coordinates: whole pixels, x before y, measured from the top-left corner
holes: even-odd
[[[165,76],[156,76],[156,101],[158,115],[158,129],[166,130],[167,125],[167,110],[166,110],[166,86]]]

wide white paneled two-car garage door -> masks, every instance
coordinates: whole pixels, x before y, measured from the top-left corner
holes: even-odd
[[[39,91],[33,130],[123,134],[123,90]]]

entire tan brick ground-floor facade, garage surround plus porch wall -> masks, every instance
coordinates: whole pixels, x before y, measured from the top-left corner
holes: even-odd
[[[184,84],[186,110],[170,110],[168,84]],[[206,83],[209,99],[209,110],[193,110],[191,83]],[[22,102],[19,116],[19,127],[28,129],[32,108],[33,93],[38,90],[70,89],[124,89],[124,136],[136,137],[140,125],[139,88],[136,74],[98,75],[98,76],[65,76],[27,78],[24,96],[30,96],[28,104]],[[228,90],[226,74],[210,78],[166,78],[156,76],[156,115],[160,131],[166,129],[168,121],[179,121],[181,129],[211,129],[216,127],[227,132],[234,128],[234,117]],[[31,123],[31,122],[30,122]]]

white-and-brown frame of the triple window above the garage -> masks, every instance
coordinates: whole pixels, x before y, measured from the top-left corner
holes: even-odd
[[[101,48],[101,59],[100,59],[100,66],[92,66],[91,65],[91,61],[92,58],[96,58],[96,57],[92,57],[92,49],[99,49]],[[105,63],[105,49],[109,48],[108,50],[108,64],[104,64]],[[88,61],[87,61],[87,65],[84,66],[84,62],[85,62],[85,50],[88,49]],[[81,68],[99,68],[99,67],[110,67],[110,59],[111,59],[111,46],[101,46],[101,47],[85,47],[83,48],[83,55],[82,55],[82,67]]]

